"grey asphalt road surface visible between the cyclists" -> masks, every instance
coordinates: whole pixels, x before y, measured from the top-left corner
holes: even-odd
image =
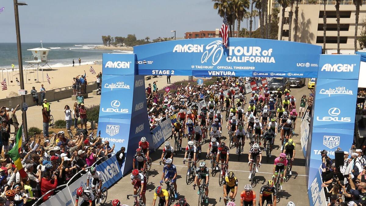
[[[302,95],[309,96],[310,90],[307,89],[307,81],[306,85],[302,88],[291,88],[290,94],[295,96],[297,102],[297,111],[300,105],[300,99]],[[249,101],[249,94],[247,95],[247,101]],[[248,104],[247,104],[248,105]],[[245,110],[248,106],[245,106]],[[225,112],[223,113],[225,116]],[[224,136],[223,140],[228,145],[229,139],[226,138],[228,136],[226,129],[227,122],[223,122],[223,132],[222,136]],[[296,122],[295,135],[292,137],[294,143],[296,144],[296,154],[295,160],[292,167],[292,176],[291,178],[283,184],[283,190],[280,191],[277,196],[279,196],[279,201],[277,201],[278,206],[286,206],[289,201],[292,201],[296,204],[296,206],[306,206],[309,205],[309,199],[307,196],[307,187],[306,187],[306,172],[305,172],[305,159],[303,157],[303,153],[300,145],[300,125],[301,121],[298,118]],[[226,137],[225,137],[226,136]],[[259,172],[256,173],[257,184],[253,185],[253,191],[257,195],[257,205],[259,201],[259,190],[260,188],[266,184],[268,180],[272,179],[273,172],[273,162],[275,158],[279,156],[281,153],[280,147],[281,142],[279,138],[280,134],[277,134],[275,138],[275,146],[272,151],[272,157],[268,159],[266,158],[265,152],[262,152],[262,165],[259,168]],[[171,140],[171,144],[174,145],[174,140]],[[183,139],[183,146],[187,145],[187,139]],[[161,153],[163,150],[163,146],[161,146],[156,152],[151,154],[151,158],[153,160],[152,169],[150,171],[149,183],[147,184],[146,191],[146,205],[152,205],[152,199],[154,195],[154,188],[159,185],[161,180],[161,174],[163,165],[159,165],[159,161],[161,158]],[[206,151],[208,148],[208,143],[202,146],[202,153],[200,159],[206,159]],[[263,142],[262,142],[262,150],[263,150]],[[251,184],[248,179],[249,176],[249,166],[248,166],[248,153],[249,153],[250,145],[249,141],[246,140],[243,154],[240,155],[238,161],[238,155],[235,154],[235,148],[230,150],[229,156],[229,171],[233,171],[235,173],[235,177],[239,180],[238,192],[236,195],[236,205],[240,205],[240,192],[244,190],[244,185]],[[186,184],[186,174],[187,174],[187,164],[183,165],[184,152],[181,151],[178,154],[175,154],[173,164],[177,168],[177,184],[178,184],[178,199],[186,198],[187,202],[191,205],[198,205],[198,195],[197,188],[193,190],[193,183],[189,185]],[[210,167],[210,161],[205,160],[206,165]],[[198,164],[198,163],[197,163]],[[119,199],[122,204],[132,206],[134,204],[133,198],[129,200],[126,199],[127,194],[133,194],[133,186],[131,185],[130,179],[131,173],[127,174],[124,178],[119,180],[115,185],[108,189],[108,198],[107,205],[110,205],[113,199]],[[163,187],[164,188],[164,187]],[[209,202],[208,205],[224,205],[224,202],[219,202],[219,198],[223,196],[223,186],[219,186],[219,173],[216,176],[212,177],[210,174],[210,184],[209,184]],[[175,203],[174,203],[175,204]],[[157,204],[156,204],[157,205]]]

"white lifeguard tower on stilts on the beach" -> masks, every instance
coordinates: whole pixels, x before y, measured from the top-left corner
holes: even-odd
[[[38,79],[38,70],[42,69],[42,82],[44,81],[44,75],[43,75],[43,69],[51,69],[51,66],[48,65],[48,52],[51,51],[51,49],[46,49],[42,47],[33,48],[33,49],[27,49],[28,51],[31,51],[33,56],[29,58],[29,60],[26,60],[25,62],[28,63],[28,65],[25,67],[26,70],[29,70],[31,68],[37,69],[37,79],[35,81],[39,81]],[[36,65],[37,64],[37,65]],[[26,74],[27,75],[27,74]],[[29,77],[26,77],[26,81],[30,80],[30,71],[29,71]]]

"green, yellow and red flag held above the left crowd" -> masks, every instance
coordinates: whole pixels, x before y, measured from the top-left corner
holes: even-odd
[[[22,135],[23,135],[23,125],[19,127],[18,133],[16,133],[14,147],[9,151],[9,157],[14,162],[15,167],[18,169],[20,176],[26,177],[27,173],[25,172],[22,161],[20,160],[20,150],[22,149]]]

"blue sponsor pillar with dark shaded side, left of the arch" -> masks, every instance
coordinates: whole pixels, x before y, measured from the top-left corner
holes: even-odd
[[[152,144],[146,112],[145,81],[136,75],[135,54],[103,54],[98,130],[103,141],[126,148],[122,172],[132,169],[132,157],[142,136]],[[152,146],[150,146],[152,147]]]

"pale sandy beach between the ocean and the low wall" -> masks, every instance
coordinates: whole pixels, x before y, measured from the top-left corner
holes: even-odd
[[[91,74],[89,71],[90,66],[94,68],[96,73],[98,74],[102,71],[102,65],[81,65],[78,66],[78,63],[75,62],[75,67],[67,66],[67,67],[54,67],[52,70],[44,69],[43,71],[43,80],[42,81],[42,70],[38,71],[39,81],[34,81],[37,78],[37,70],[27,70],[23,71],[24,76],[24,89],[30,93],[32,87],[36,87],[37,92],[40,91],[41,84],[44,85],[46,92],[48,90],[62,88],[62,87],[69,87],[72,85],[72,78],[78,75],[84,75],[84,70],[86,73],[86,79],[88,82],[96,81],[97,74]],[[51,78],[51,84],[48,84],[46,79],[46,74]],[[8,76],[9,75],[9,76]],[[27,76],[27,77],[26,77]],[[7,80],[7,90],[3,90],[0,92],[0,98],[4,99],[7,97],[18,96],[18,89],[20,86],[16,84],[15,78],[18,77],[19,79],[19,71],[14,70],[13,72],[9,70],[9,74],[7,74],[6,70],[2,73],[0,72],[0,77],[3,80],[6,78]],[[30,79],[30,81],[29,81]],[[13,82],[10,82],[10,81]]]

